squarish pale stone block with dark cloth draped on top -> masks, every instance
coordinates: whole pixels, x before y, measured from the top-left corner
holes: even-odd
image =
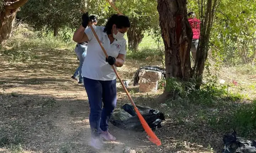
[[[139,92],[156,92],[162,73],[153,70],[139,71]]]

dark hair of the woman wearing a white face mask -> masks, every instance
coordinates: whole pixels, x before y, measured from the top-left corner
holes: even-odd
[[[130,28],[130,21],[127,16],[114,14],[108,19],[103,32],[106,32],[107,34],[111,34],[113,24],[116,24],[118,29]]]

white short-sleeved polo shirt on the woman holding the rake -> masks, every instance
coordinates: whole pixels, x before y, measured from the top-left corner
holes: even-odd
[[[95,32],[106,50],[107,55],[113,56],[114,58],[117,58],[119,53],[126,55],[126,40],[124,38],[122,40],[115,39],[113,43],[110,44],[107,33],[103,32],[104,28],[105,27],[94,26]],[[92,33],[91,28],[85,29],[85,34],[88,36],[89,41],[87,55],[82,67],[82,76],[103,81],[116,79],[116,74],[110,64],[106,62],[106,56]]]

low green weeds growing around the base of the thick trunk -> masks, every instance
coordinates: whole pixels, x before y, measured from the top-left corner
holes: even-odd
[[[218,83],[216,75],[212,75],[208,67],[206,67],[206,75],[200,89],[196,88],[196,82],[194,79],[180,81],[176,78],[168,78],[165,90],[170,93],[173,101],[185,100],[193,104],[203,104],[204,106],[214,106],[217,104],[216,100],[220,98],[231,101],[246,98],[245,95],[230,90],[231,86],[234,86],[233,84]]]

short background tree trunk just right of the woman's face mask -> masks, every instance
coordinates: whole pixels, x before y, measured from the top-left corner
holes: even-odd
[[[138,50],[138,46],[144,38],[143,30],[136,27],[131,27],[127,31],[128,48],[134,52]]]

